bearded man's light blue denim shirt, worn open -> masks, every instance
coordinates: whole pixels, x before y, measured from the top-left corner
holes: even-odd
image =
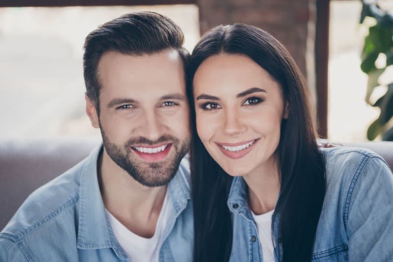
[[[102,145],[34,191],[0,233],[1,262],[129,261],[105,212],[97,179]],[[160,262],[192,261],[194,219],[189,162],[168,184],[169,218]]]

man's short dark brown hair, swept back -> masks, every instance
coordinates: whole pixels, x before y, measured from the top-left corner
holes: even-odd
[[[166,16],[147,11],[125,14],[90,32],[84,41],[84,82],[97,113],[102,84],[97,74],[98,63],[104,53],[144,55],[172,48],[179,52],[186,66],[189,53],[182,47],[183,42],[179,26]]]

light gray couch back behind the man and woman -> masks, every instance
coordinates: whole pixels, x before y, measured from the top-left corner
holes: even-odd
[[[99,138],[0,141],[0,229],[34,189],[74,166],[99,143]],[[393,167],[393,142],[341,144],[369,148]]]

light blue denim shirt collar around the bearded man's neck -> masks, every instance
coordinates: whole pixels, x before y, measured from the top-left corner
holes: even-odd
[[[80,180],[79,228],[77,247],[79,249],[112,248],[119,259],[127,260],[127,255],[117,242],[105,213],[97,177],[97,160],[102,144],[87,157]],[[184,170],[178,170],[168,184],[168,194],[177,217],[191,199],[190,183]],[[105,226],[103,226],[105,225]]]

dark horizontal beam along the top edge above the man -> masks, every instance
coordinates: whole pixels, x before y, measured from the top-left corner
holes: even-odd
[[[195,4],[196,0],[0,0],[0,7]]]

